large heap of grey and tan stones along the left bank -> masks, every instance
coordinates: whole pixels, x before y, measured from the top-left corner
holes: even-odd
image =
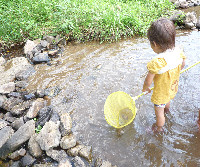
[[[6,61],[0,57],[0,164],[86,167],[96,161],[95,167],[112,167],[108,161],[93,160],[91,146],[74,136],[70,115],[48,105],[45,90],[26,90],[29,76],[35,72],[32,62],[48,62],[43,58],[51,55],[51,42],[27,41],[24,50],[28,58]]]

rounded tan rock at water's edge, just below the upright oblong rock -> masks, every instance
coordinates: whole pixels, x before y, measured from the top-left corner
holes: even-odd
[[[73,134],[64,136],[61,139],[60,146],[61,146],[62,149],[66,149],[66,150],[76,146],[75,136]]]

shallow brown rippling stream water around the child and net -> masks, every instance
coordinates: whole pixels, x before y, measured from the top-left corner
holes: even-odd
[[[184,48],[186,67],[200,60],[200,32],[177,32],[177,45]],[[119,167],[199,166],[200,135],[196,120],[200,103],[200,65],[183,73],[179,91],[166,115],[165,133],[152,134],[155,122],[150,96],[136,101],[134,121],[118,135],[103,114],[105,100],[115,91],[131,96],[141,93],[146,64],[155,54],[145,38],[114,44],[87,43],[67,46],[59,64],[36,65],[29,89],[57,86],[52,105],[73,118],[73,133],[91,145],[95,156]]]

